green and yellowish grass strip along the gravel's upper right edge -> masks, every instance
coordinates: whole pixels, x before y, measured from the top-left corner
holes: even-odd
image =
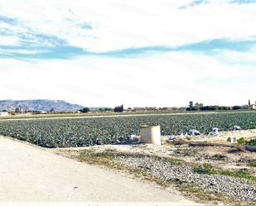
[[[256,181],[256,176],[249,174],[247,170],[230,171],[230,170],[215,170],[213,165],[204,164],[196,165],[193,171],[205,175],[226,175],[231,177],[239,177],[246,180]]]

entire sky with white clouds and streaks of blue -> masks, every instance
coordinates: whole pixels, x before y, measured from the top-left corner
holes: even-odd
[[[0,0],[0,99],[256,101],[256,0]]]

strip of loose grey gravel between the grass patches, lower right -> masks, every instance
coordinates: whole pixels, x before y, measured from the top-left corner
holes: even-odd
[[[162,180],[175,180],[183,185],[197,186],[233,199],[256,202],[256,184],[249,180],[225,175],[201,175],[193,172],[190,165],[173,165],[150,156],[118,156],[118,160],[133,168],[147,170]]]

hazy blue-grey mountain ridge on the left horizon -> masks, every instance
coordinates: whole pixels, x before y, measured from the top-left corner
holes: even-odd
[[[31,100],[0,100],[0,111],[15,111],[19,108],[22,111],[75,111],[84,108],[78,104],[67,103],[63,100],[31,99]]]

